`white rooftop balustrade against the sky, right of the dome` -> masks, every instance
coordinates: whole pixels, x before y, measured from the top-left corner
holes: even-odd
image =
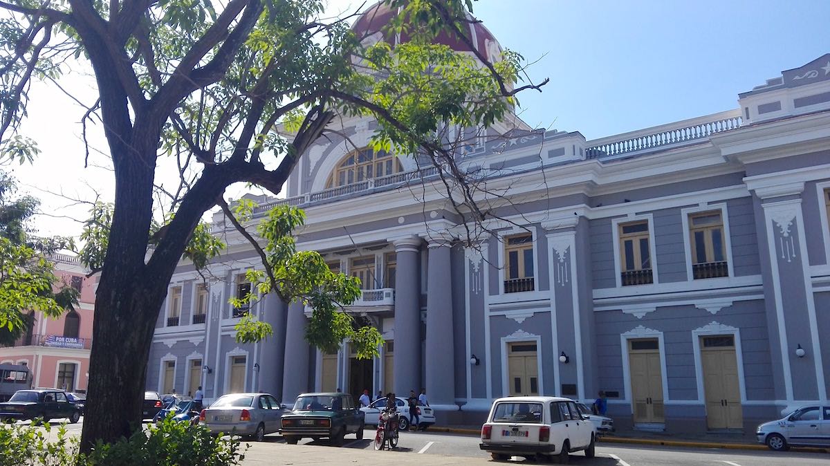
[[[590,141],[593,145],[586,149],[588,158],[606,158],[624,153],[661,148],[673,144],[686,143],[708,138],[715,133],[723,133],[740,128],[740,109],[711,114],[695,119],[686,119],[653,128],[617,134],[608,138]]]

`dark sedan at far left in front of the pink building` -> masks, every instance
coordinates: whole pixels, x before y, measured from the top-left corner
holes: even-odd
[[[32,420],[43,422],[66,418],[71,424],[81,419],[81,410],[66,398],[66,391],[56,388],[18,390],[8,401],[0,403],[0,421]]]

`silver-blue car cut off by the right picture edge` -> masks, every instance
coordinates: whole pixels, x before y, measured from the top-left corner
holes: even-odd
[[[804,406],[784,419],[765,422],[755,432],[760,444],[782,451],[789,447],[826,447],[830,439],[830,406]]]

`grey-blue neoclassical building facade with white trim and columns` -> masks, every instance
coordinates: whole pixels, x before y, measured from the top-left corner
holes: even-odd
[[[443,422],[481,420],[499,396],[590,401],[602,390],[619,427],[667,431],[750,430],[824,402],[830,54],[738,104],[593,141],[500,127],[469,138],[461,165],[500,193],[482,201],[496,218],[473,241],[435,167],[320,142],[286,199],[251,198],[260,217],[302,207],[298,248],[361,279],[349,312],[381,331],[379,356],[361,361],[349,342],[337,354],[309,347],[302,303],[268,295],[232,308],[261,262],[219,213],[213,231],[228,250],[207,279],[185,261],[173,275],[147,389],[291,403],[302,391],[426,388]],[[339,128],[358,146],[373,129]],[[274,336],[235,342],[243,313]]]

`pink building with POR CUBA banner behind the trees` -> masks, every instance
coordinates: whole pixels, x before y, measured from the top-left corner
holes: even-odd
[[[51,259],[55,274],[81,292],[78,305],[56,319],[35,312],[29,332],[14,346],[0,347],[0,363],[29,366],[33,387],[83,392],[89,376],[97,278],[86,278],[89,271],[75,256],[56,254]]]

